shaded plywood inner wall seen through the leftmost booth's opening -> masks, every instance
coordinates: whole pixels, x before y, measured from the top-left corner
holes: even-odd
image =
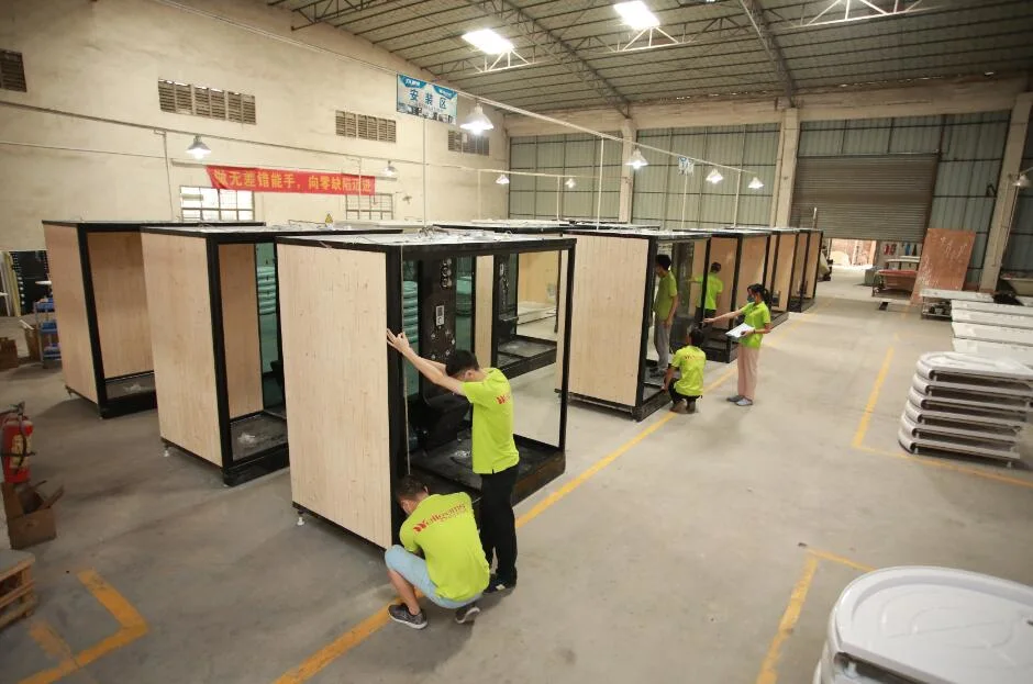
[[[140,232],[89,233],[87,245],[104,377],[149,372],[154,362]]]

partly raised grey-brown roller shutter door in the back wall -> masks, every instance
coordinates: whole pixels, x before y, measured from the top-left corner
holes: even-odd
[[[825,237],[921,242],[925,235],[936,155],[801,157],[792,192],[791,225]]]

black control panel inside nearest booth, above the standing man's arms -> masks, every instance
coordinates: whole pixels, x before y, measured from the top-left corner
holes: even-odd
[[[445,363],[455,352],[455,259],[420,262],[420,354]]]

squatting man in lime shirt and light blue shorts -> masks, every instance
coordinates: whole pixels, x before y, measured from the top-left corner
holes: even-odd
[[[395,497],[409,517],[398,532],[402,545],[384,554],[388,579],[402,599],[388,608],[388,615],[406,627],[426,627],[426,615],[416,602],[420,590],[431,603],[455,610],[460,625],[474,621],[489,570],[470,495],[431,494],[423,482],[406,475],[395,485]]]

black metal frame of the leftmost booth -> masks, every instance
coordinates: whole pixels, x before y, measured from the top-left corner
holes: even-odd
[[[104,360],[100,347],[100,328],[97,323],[97,295],[93,291],[93,269],[90,265],[89,235],[91,233],[142,233],[147,227],[169,225],[166,221],[44,221],[43,225],[62,226],[76,229],[76,239],[79,248],[79,269],[82,272],[82,303],[86,307],[86,323],[90,339],[90,358],[93,366],[93,390],[97,394],[95,402],[81,392],[78,392],[68,385],[65,390],[69,394],[81,397],[95,406],[101,418],[115,418],[119,416],[149,411],[157,406],[157,395],[154,390],[148,392],[137,392],[125,396],[109,397],[108,382],[112,380],[123,380],[130,378],[154,377],[154,369],[132,373],[130,375],[116,375],[112,378],[104,377]],[[181,226],[202,226],[211,225],[200,222],[174,224]],[[242,221],[219,223],[222,226],[260,226],[265,225],[260,221]],[[55,311],[57,303],[55,302]],[[60,329],[57,330],[57,338],[60,339]],[[63,357],[64,362],[64,357]]]

